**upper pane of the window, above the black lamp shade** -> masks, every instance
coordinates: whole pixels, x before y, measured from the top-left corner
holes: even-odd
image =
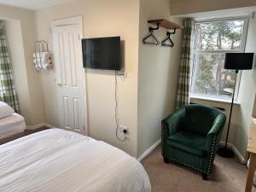
[[[195,49],[241,49],[244,20],[222,20],[196,24]]]

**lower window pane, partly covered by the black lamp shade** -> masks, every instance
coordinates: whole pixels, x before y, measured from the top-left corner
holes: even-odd
[[[195,54],[191,93],[198,96],[231,98],[234,70],[224,69],[224,54]]]

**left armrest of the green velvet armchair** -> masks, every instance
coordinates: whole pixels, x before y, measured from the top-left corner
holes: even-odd
[[[169,137],[177,132],[180,127],[183,117],[185,115],[185,108],[178,108],[174,113],[162,120],[162,129],[164,137]]]

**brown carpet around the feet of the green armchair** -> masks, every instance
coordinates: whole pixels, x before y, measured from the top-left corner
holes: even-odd
[[[201,174],[174,163],[165,164],[160,147],[143,160],[152,192],[244,192],[247,168],[236,159],[216,155],[207,181]],[[253,187],[253,192],[256,189]]]

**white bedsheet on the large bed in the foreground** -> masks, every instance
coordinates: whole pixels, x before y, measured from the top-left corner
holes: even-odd
[[[150,183],[118,148],[52,129],[0,146],[0,191],[150,192]]]

